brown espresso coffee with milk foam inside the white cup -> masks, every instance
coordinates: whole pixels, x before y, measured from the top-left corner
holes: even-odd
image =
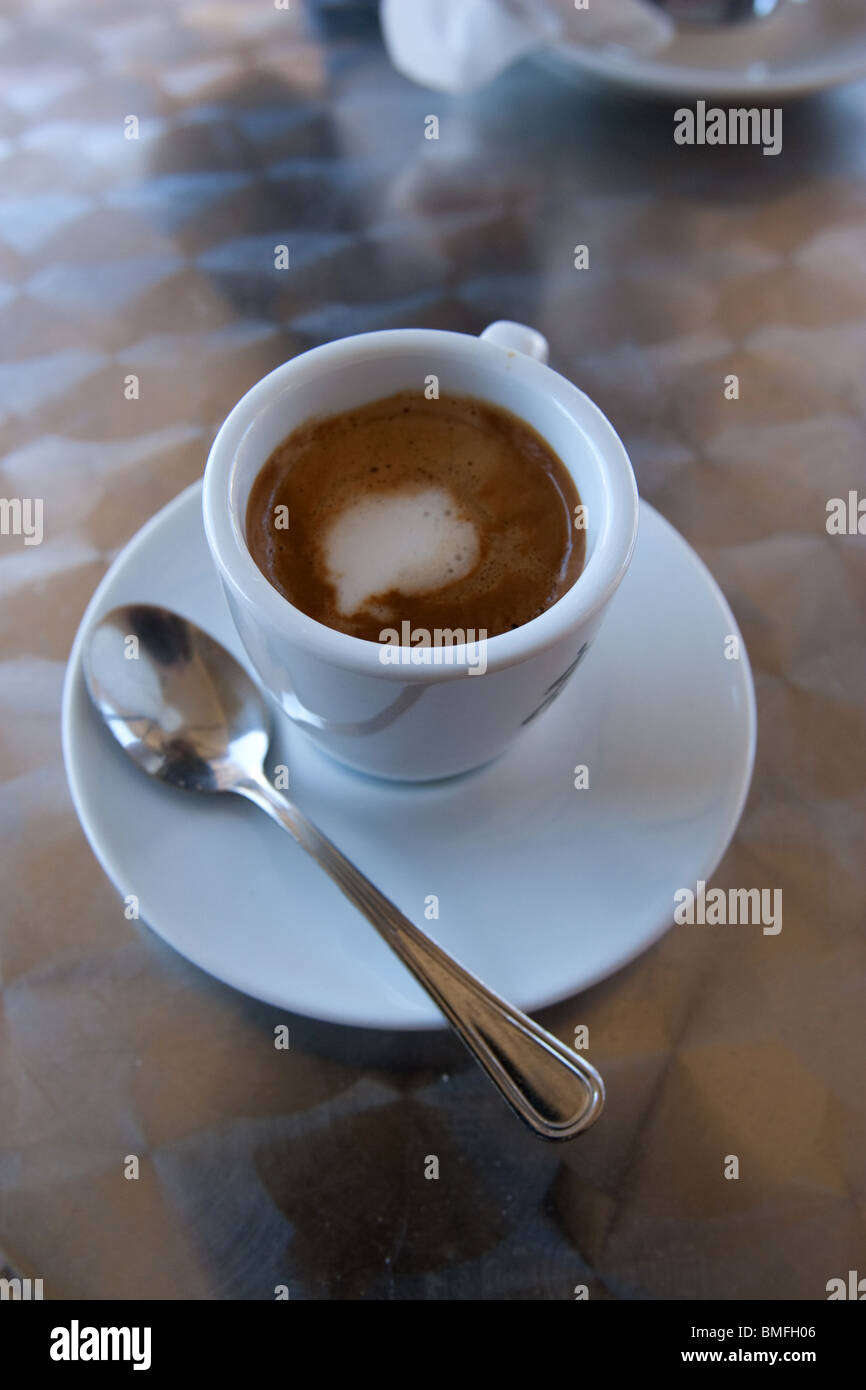
[[[496,637],[577,580],[578,507],[564,464],[510,411],[411,391],[284,439],[253,484],[246,541],[275,589],[339,632]]]

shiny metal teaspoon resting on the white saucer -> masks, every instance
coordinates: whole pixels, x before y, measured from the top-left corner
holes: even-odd
[[[571,1138],[598,1119],[595,1068],[452,960],[271,785],[265,702],[224,646],[170,609],[132,603],[97,623],[83,667],[93,703],[139,767],[172,787],[246,796],[313,855],[537,1134]]]

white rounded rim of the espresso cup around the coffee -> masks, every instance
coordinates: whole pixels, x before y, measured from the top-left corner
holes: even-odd
[[[455,645],[441,664],[385,664],[382,645],[350,637],[302,613],[261,573],[245,537],[245,518],[238,516],[236,459],[246,435],[256,428],[278,396],[297,391],[303,379],[339,366],[359,364],[366,357],[407,349],[435,348],[457,359],[478,353],[500,359],[503,371],[517,373],[524,384],[544,395],[552,411],[567,414],[592,446],[606,495],[602,528],[575,582],[549,609],[509,632],[485,639],[487,671],[527,660],[559,642],[570,630],[582,627],[603,609],[619,587],[631,559],[638,530],[638,489],[626,448],[607,417],[578,386],[552,367],[524,353],[475,338],[471,334],[438,328],[386,328],[339,338],[311,348],[275,367],[257,381],[232,407],[210,448],[203,482],[204,532],[217,570],[229,594],[261,612],[296,645],[329,664],[359,674],[411,681],[450,680],[466,674],[475,644]],[[484,395],[480,393],[480,399]],[[339,413],[339,406],[332,411]],[[514,414],[521,418],[520,411]],[[538,431],[544,436],[544,427]],[[261,459],[264,466],[265,459]],[[564,463],[564,460],[563,460]],[[567,463],[564,464],[567,467]],[[400,648],[417,652],[418,648]],[[435,651],[428,648],[427,651]]]

